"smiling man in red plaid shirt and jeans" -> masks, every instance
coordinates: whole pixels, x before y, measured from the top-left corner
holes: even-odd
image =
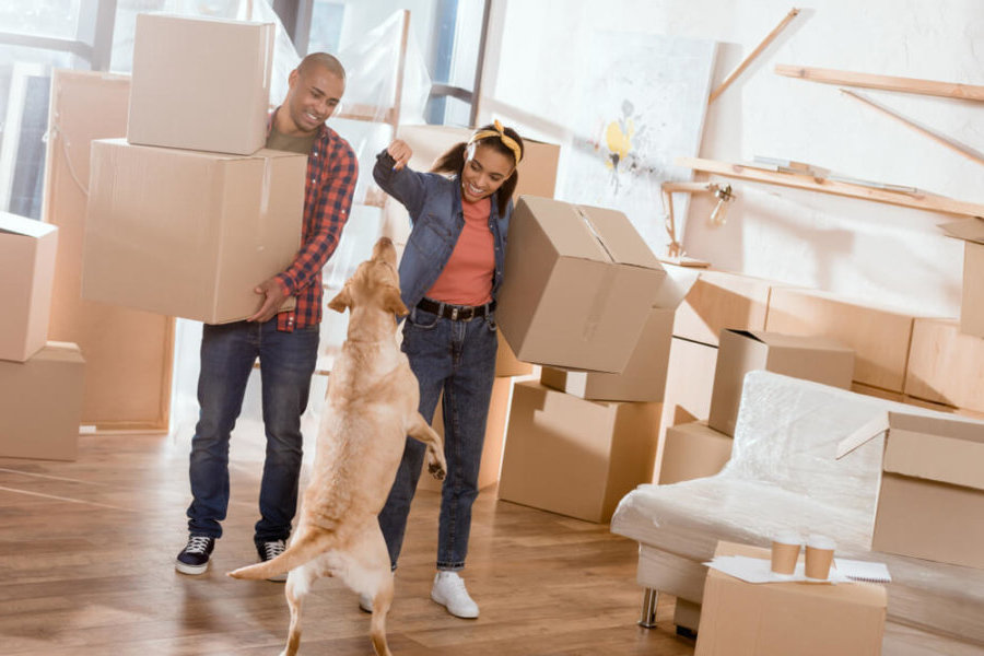
[[[283,104],[270,119],[267,148],[308,153],[303,243],[291,266],[256,288],[262,298],[244,321],[203,326],[200,415],[191,440],[188,543],[175,569],[202,574],[229,506],[229,441],[257,358],[262,383],[267,455],[260,483],[260,519],[254,542],[260,560],[284,549],[297,506],[301,414],[307,407],[321,320],[321,267],[335,251],[349,216],[358,162],[349,143],[325,125],[345,90],[345,71],[325,52],[291,71]],[[289,297],[293,311],[278,313]],[[282,578],[281,578],[282,579]]]

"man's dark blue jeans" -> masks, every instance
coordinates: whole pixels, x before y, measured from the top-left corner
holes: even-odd
[[[254,540],[290,537],[301,473],[301,414],[307,407],[317,354],[316,325],[281,332],[274,317],[265,324],[202,327],[200,413],[189,469],[194,497],[188,506],[189,534],[222,536],[220,522],[229,507],[229,438],[243,407],[249,372],[259,358],[267,455]]]

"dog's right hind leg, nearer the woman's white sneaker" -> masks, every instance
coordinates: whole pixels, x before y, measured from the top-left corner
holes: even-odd
[[[335,574],[360,595],[373,598],[370,635],[376,655],[393,656],[386,642],[386,616],[393,604],[393,569],[386,540],[375,516],[352,541],[351,549],[344,555],[338,552],[336,555],[341,557],[344,564]]]

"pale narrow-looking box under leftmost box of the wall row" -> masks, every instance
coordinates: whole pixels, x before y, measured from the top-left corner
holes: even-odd
[[[661,476],[660,467],[666,449],[667,430],[694,421],[706,422],[710,417],[716,366],[717,347],[677,337],[671,340],[669,366],[666,374],[666,394],[663,397],[663,415],[659,422],[659,454],[656,456],[654,483],[658,483]]]

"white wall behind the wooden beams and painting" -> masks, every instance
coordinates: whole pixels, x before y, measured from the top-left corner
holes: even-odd
[[[578,71],[595,31],[717,40],[713,86],[792,9],[777,0],[563,0],[494,3],[480,120],[567,144]],[[776,63],[984,85],[984,2],[816,0],[708,108],[701,156],[805,161],[856,178],[984,203],[984,166],[848,98],[829,84],[773,73]],[[984,104],[855,90],[984,152]],[[563,165],[561,177],[563,176]],[[956,316],[962,246],[937,224],[956,216],[731,180],[724,226],[695,197],[684,247],[722,269]],[[562,192],[562,185],[558,187]],[[658,202],[653,221],[661,221]]]

